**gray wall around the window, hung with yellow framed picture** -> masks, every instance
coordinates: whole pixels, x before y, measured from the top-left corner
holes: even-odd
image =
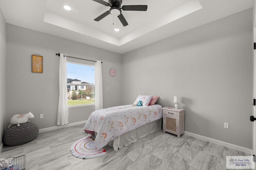
[[[39,129],[56,126],[59,57],[55,54],[59,52],[101,60],[104,108],[121,104],[120,54],[15,25],[7,24],[6,27],[6,126],[12,115],[29,111],[35,116],[31,121]],[[37,52],[43,56],[42,74],[31,72],[31,55]],[[116,68],[115,77],[110,76],[110,68]],[[87,120],[92,111],[94,106],[69,108],[69,123]],[[40,114],[44,114],[43,119],[39,119]]]

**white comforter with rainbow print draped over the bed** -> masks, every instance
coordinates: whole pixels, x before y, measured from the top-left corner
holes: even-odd
[[[92,112],[84,130],[97,132],[94,143],[101,149],[118,137],[137,127],[163,117],[162,106],[116,106]]]

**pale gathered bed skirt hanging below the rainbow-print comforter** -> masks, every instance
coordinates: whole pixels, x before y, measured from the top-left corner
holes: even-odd
[[[121,149],[124,146],[127,146],[131,143],[136,142],[137,139],[161,129],[161,127],[162,127],[162,119],[152,121],[132,131],[126,132],[119,137],[116,137],[114,140],[108,142],[108,145],[112,146],[114,150]]]

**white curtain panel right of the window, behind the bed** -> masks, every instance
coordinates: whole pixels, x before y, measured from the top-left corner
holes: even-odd
[[[95,63],[95,110],[103,109],[101,61]]]

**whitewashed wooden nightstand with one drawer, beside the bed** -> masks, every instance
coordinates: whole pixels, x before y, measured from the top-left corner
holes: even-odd
[[[175,109],[175,107],[168,108],[164,107],[162,108],[164,112],[164,133],[170,132],[178,137],[180,137],[181,134],[184,134],[184,110],[185,109]]]

